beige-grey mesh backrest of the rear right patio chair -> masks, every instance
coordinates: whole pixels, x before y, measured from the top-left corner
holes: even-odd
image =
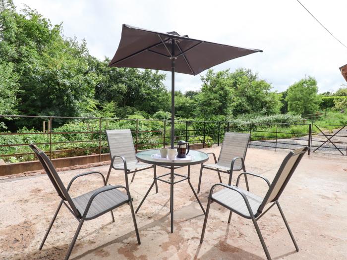
[[[226,132],[219,154],[218,163],[230,167],[234,157],[242,157],[245,159],[250,134]],[[236,160],[234,168],[242,168],[241,160]]]

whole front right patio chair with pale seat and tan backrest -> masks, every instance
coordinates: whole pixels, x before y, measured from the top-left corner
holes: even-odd
[[[269,251],[265,245],[265,241],[263,239],[263,236],[260,232],[259,226],[257,221],[259,218],[261,218],[270,208],[272,208],[275,204],[277,205],[281,216],[286,224],[287,230],[289,232],[289,235],[291,237],[291,240],[295,246],[296,251],[299,251],[299,248],[296,244],[296,241],[294,239],[293,234],[291,233],[291,230],[289,228],[289,224],[286,220],[286,217],[282,211],[282,208],[280,207],[280,203],[278,202],[278,199],[280,198],[283,190],[285,189],[286,185],[289,182],[290,177],[292,176],[293,172],[295,171],[296,166],[300,162],[302,156],[306,153],[306,151],[309,150],[309,147],[303,147],[299,148],[296,150],[293,150],[289,152],[289,154],[285,157],[283,160],[273,182],[270,184],[270,182],[263,176],[249,173],[249,172],[243,172],[237,177],[236,181],[236,186],[231,186],[231,185],[226,185],[223,183],[218,183],[212,186],[209,194],[209,199],[207,202],[207,208],[206,208],[206,214],[205,214],[205,220],[204,224],[202,227],[202,232],[201,232],[201,239],[200,243],[203,242],[204,240],[204,233],[206,229],[206,223],[207,223],[207,218],[208,218],[208,213],[210,210],[210,205],[211,202],[216,202],[220,205],[222,205],[225,208],[230,209],[230,214],[229,214],[229,220],[228,223],[230,223],[231,220],[231,213],[235,212],[236,214],[252,219],[255,230],[257,231],[258,237],[260,239],[261,245],[264,249],[266,258],[268,260],[271,259]],[[254,177],[259,177],[263,179],[267,185],[269,186],[269,190],[267,191],[266,195],[264,198],[257,196],[251,192],[242,190],[238,188],[238,183],[240,180],[241,175],[251,175]],[[213,190],[217,186],[222,186],[224,189],[221,191],[218,191],[216,193],[213,193]],[[265,206],[267,206],[269,203],[271,205],[264,210]]]

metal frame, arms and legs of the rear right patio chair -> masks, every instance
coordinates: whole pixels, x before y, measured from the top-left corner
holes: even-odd
[[[247,142],[247,143],[249,143],[249,139],[250,139],[250,135],[249,135],[249,138],[248,138],[248,142]],[[223,146],[223,144],[222,144],[222,146]],[[246,145],[246,150],[245,150],[245,152],[244,152],[244,157],[246,156],[247,149],[248,149],[248,145]],[[222,151],[221,151],[221,152],[222,152]],[[219,157],[221,156],[221,154],[220,154],[219,157],[218,157],[218,160],[217,160],[217,157],[216,157],[215,153],[207,153],[207,154],[208,154],[208,155],[213,155],[213,158],[214,158],[214,160],[215,160],[215,163],[218,162]],[[212,167],[210,167],[210,166],[206,166],[206,165],[204,165],[203,163],[201,163],[200,175],[199,175],[199,184],[198,184],[198,192],[197,192],[197,193],[200,193],[200,186],[201,186],[201,179],[202,179],[202,170],[203,170],[203,168],[209,169],[209,170],[217,171],[217,172],[218,172],[218,177],[219,177],[220,183],[223,183],[220,173],[223,172],[223,173],[229,174],[228,184],[231,185],[231,178],[232,178],[232,173],[233,173],[233,171],[240,171],[240,170],[243,170],[243,172],[246,171],[246,166],[245,166],[245,164],[244,164],[244,157],[237,156],[237,157],[232,158],[230,170],[227,170],[227,171],[225,171],[225,170],[220,170],[219,168],[212,168]],[[241,160],[242,168],[241,168],[241,169],[234,169],[233,167],[234,167],[235,161],[238,160],[238,159]],[[246,177],[246,176],[245,176],[245,182],[246,182],[247,191],[249,191],[248,180],[247,180],[247,177]]]

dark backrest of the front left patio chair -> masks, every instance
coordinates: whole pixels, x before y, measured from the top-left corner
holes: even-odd
[[[50,178],[50,180],[51,180],[54,188],[56,189],[59,197],[62,200],[67,201],[68,204],[70,205],[71,209],[73,210],[73,212],[77,216],[79,216],[79,212],[78,212],[77,208],[75,207],[75,205],[73,204],[71,197],[68,194],[64,184],[62,183],[62,181],[61,181],[55,167],[53,166],[50,158],[45,154],[45,152],[38,149],[35,145],[30,144],[29,147],[34,151],[35,155],[38,157],[42,167],[44,168],[48,177]]]

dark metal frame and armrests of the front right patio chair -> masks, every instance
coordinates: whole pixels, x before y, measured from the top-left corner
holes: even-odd
[[[294,239],[294,236],[293,236],[293,234],[292,234],[292,232],[291,232],[291,230],[290,230],[288,221],[287,221],[287,219],[286,219],[286,217],[285,217],[285,214],[283,213],[283,210],[282,210],[282,208],[281,208],[281,206],[280,206],[280,203],[279,203],[278,199],[279,199],[279,197],[281,196],[281,194],[282,194],[284,188],[285,188],[286,185],[288,184],[289,179],[290,179],[291,175],[293,174],[293,172],[295,171],[295,169],[296,169],[298,163],[300,162],[302,156],[306,153],[306,151],[308,151],[308,149],[309,149],[308,147],[305,147],[305,148],[303,149],[303,151],[301,151],[300,153],[298,153],[299,158],[295,161],[294,165],[292,166],[292,168],[291,168],[291,170],[290,170],[290,172],[289,172],[289,174],[288,174],[288,176],[287,176],[285,182],[282,184],[281,189],[280,189],[279,192],[277,193],[277,196],[276,196],[271,202],[269,202],[269,203],[272,203],[272,204],[271,204],[266,210],[264,210],[264,211],[263,211],[263,209],[264,209],[265,206],[268,204],[268,203],[267,203],[267,200],[268,200],[269,196],[271,195],[271,192],[273,191],[273,189],[274,189],[274,187],[275,187],[275,186],[272,186],[272,185],[270,184],[269,180],[268,180],[267,178],[265,178],[264,176],[261,176],[261,175],[258,175],[258,174],[254,174],[254,173],[250,173],[250,172],[242,172],[242,173],[239,174],[238,177],[237,177],[236,186],[230,186],[230,185],[226,185],[226,184],[224,184],[224,183],[217,183],[217,184],[213,185],[213,186],[211,187],[211,190],[210,190],[210,193],[209,193],[209,197],[208,197],[207,208],[206,208],[206,214],[205,214],[204,224],[203,224],[203,227],[202,227],[200,243],[202,243],[203,240],[204,240],[205,229],[206,229],[206,224],[207,224],[207,219],[208,219],[208,214],[209,214],[209,210],[210,210],[211,203],[212,203],[212,202],[216,202],[216,203],[220,204],[221,206],[223,206],[223,207],[225,207],[225,208],[228,208],[228,209],[230,210],[229,219],[228,219],[228,224],[229,224],[230,221],[231,221],[231,214],[232,214],[232,212],[235,212],[236,214],[238,214],[238,215],[240,215],[240,216],[242,216],[242,217],[244,217],[244,218],[248,218],[248,219],[251,219],[251,220],[252,220],[252,222],[253,222],[253,224],[254,224],[254,227],[255,227],[255,230],[256,230],[256,232],[257,232],[257,235],[258,235],[258,237],[259,237],[260,243],[261,243],[261,245],[262,245],[262,247],[263,247],[263,250],[264,250],[264,252],[265,252],[266,258],[267,258],[268,260],[271,260],[271,257],[270,257],[268,248],[267,248],[267,246],[266,246],[266,244],[265,244],[264,238],[263,238],[263,236],[262,236],[262,234],[261,234],[261,231],[260,231],[260,228],[259,228],[259,226],[258,226],[257,221],[258,221],[265,213],[267,213],[274,205],[277,205],[277,208],[279,209],[279,211],[280,211],[280,213],[281,213],[281,216],[282,216],[282,219],[283,219],[283,221],[285,222],[285,225],[286,225],[287,230],[288,230],[288,232],[289,232],[291,241],[292,241],[293,244],[294,244],[295,250],[296,250],[296,252],[298,252],[298,251],[299,251],[299,247],[297,246],[297,243],[296,243],[296,241],[295,241],[295,239]],[[295,154],[293,153],[293,151],[291,151],[291,152],[289,153],[289,155],[286,156],[286,158],[284,159],[283,163],[281,164],[281,167],[279,168],[279,172],[280,172],[280,171],[282,172],[282,170],[283,170],[284,167],[286,166],[286,164],[287,164],[289,158],[290,158],[291,156],[293,156],[293,155],[295,155]],[[251,176],[254,176],[254,177],[261,178],[261,179],[263,179],[263,180],[266,182],[266,184],[267,184],[268,187],[269,187],[269,190],[268,190],[266,196],[264,197],[263,202],[262,202],[261,205],[259,206],[259,209],[258,209],[258,211],[257,211],[256,214],[253,213],[253,211],[252,211],[252,209],[251,209],[251,207],[250,207],[250,205],[249,205],[248,199],[247,199],[246,195],[243,193],[243,190],[240,189],[240,188],[238,188],[238,184],[239,184],[239,181],[240,181],[240,177],[241,177],[242,175],[244,175],[244,177],[246,177],[247,175],[251,175]],[[281,176],[281,174],[276,174],[275,179],[273,180],[272,183],[275,183],[275,184],[276,184],[276,182],[277,182],[277,180],[280,178],[280,176]],[[213,191],[214,191],[214,189],[215,189],[216,187],[218,187],[218,186],[222,186],[222,187],[224,187],[224,188],[228,188],[228,189],[230,189],[230,190],[233,190],[233,191],[239,193],[239,194],[242,196],[242,198],[243,198],[243,200],[244,200],[244,202],[245,202],[245,205],[246,205],[246,207],[247,207],[247,209],[248,209],[248,211],[249,211],[249,216],[244,215],[244,214],[242,214],[241,212],[236,211],[236,210],[234,210],[233,208],[230,208],[229,206],[227,206],[227,205],[225,205],[225,204],[223,204],[223,203],[221,203],[221,202],[219,202],[219,201],[217,201],[217,200],[214,200],[213,197],[212,197]],[[248,190],[248,189],[247,189],[247,190]]]

